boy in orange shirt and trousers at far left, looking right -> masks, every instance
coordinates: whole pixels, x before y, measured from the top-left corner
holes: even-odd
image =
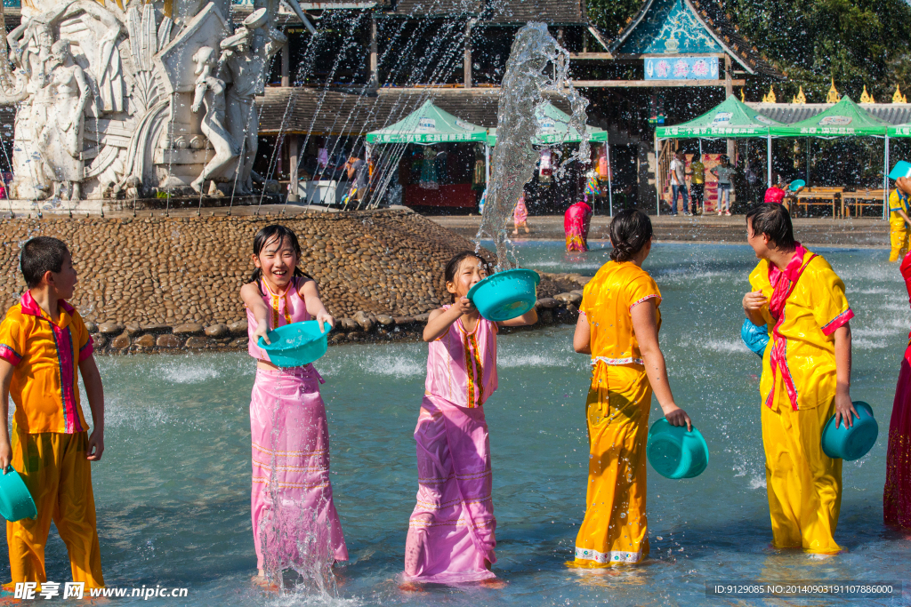
[[[45,544],[51,521],[67,544],[74,582],[101,588],[101,551],[95,526],[90,461],[104,451],[104,392],[92,339],[73,297],[76,269],[67,245],[32,238],[20,268],[28,290],[0,324],[0,466],[10,464],[26,482],[35,520],[6,523],[13,582],[47,581]],[[79,406],[77,370],[86,385],[95,429]],[[6,429],[15,402],[12,442]]]

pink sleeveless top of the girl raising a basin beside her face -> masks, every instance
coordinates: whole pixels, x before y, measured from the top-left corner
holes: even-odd
[[[467,409],[483,405],[496,390],[497,330],[496,322],[479,317],[469,332],[458,319],[430,342],[425,392]]]

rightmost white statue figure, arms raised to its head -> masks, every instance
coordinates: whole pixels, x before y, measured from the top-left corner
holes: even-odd
[[[231,83],[226,123],[234,145],[241,149],[235,190],[239,194],[250,194],[253,187],[253,160],[259,147],[260,122],[254,97],[265,90],[265,69],[271,57],[288,42],[287,37],[267,24],[267,11],[260,8],[244,19],[234,35],[220,44],[220,64],[227,71],[225,81]],[[258,37],[262,44],[254,48]]]

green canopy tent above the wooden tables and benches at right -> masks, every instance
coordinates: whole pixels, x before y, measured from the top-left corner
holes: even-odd
[[[820,137],[834,139],[836,137],[885,137],[883,151],[883,218],[888,217],[889,206],[889,136],[890,131],[899,129],[899,126],[890,126],[887,122],[871,116],[866,110],[855,104],[849,96],[834,106],[825,109],[816,116],[811,116],[792,125],[772,126],[772,137]],[[896,134],[898,130],[895,130]],[[896,137],[911,137],[911,135],[896,135]],[[807,150],[809,156],[809,150]],[[807,183],[809,183],[810,163],[807,162]]]

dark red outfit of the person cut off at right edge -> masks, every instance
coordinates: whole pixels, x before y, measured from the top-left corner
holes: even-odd
[[[911,299],[911,255],[900,266]],[[896,398],[892,403],[888,448],[885,453],[883,520],[887,525],[911,529],[911,333],[898,370]]]

